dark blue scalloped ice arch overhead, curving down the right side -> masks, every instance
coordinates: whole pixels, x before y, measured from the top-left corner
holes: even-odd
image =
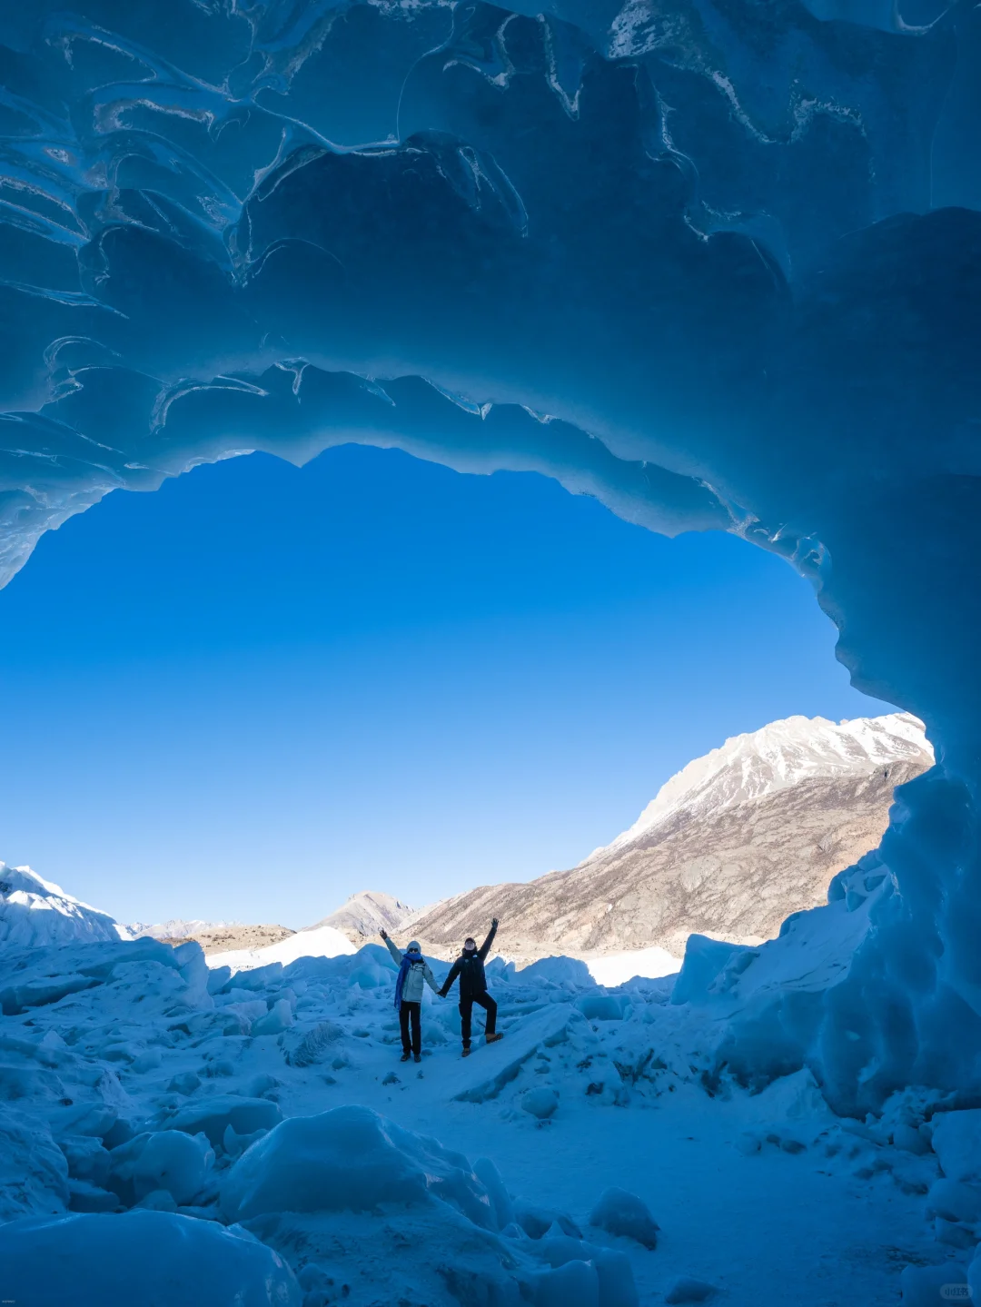
[[[805,1055],[976,1084],[981,10],[537,9],[3,7],[3,574],[115,486],[351,439],[780,552],[941,758]]]

